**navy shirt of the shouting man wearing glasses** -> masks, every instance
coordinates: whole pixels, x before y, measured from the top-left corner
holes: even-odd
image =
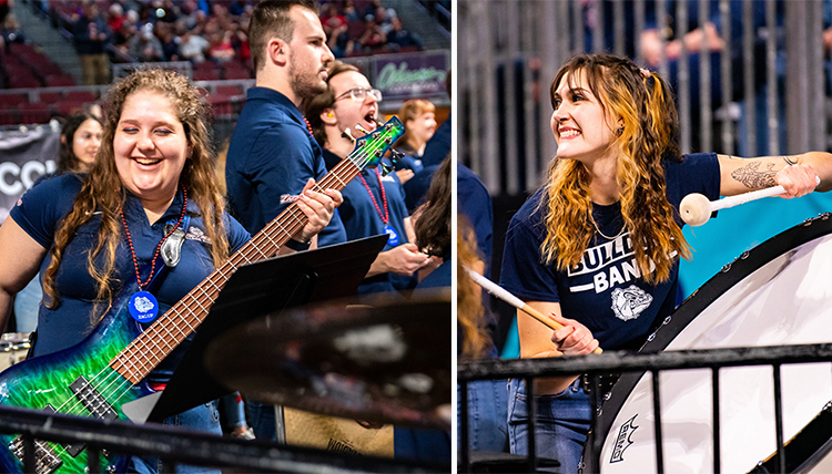
[[[323,153],[326,167],[329,169],[341,161],[337,155],[328,150],[324,150]],[[362,178],[364,178],[364,182],[362,182]],[[369,192],[365,187],[365,183]],[[378,214],[378,209],[376,209],[376,205],[373,204],[373,199],[375,199],[378,208],[384,213],[381,183],[384,183],[384,193],[387,198],[388,223],[398,235],[398,243],[396,245],[393,245],[388,240],[387,245],[384,246],[384,250],[382,251],[387,251],[409,241],[405,231],[405,218],[409,215],[405,207],[402,182],[395,173],[383,176],[379,182],[377,168],[365,168],[362,171],[361,175],[347,183],[346,187],[341,192],[344,195],[344,204],[338,207],[338,212],[346,229],[347,240],[384,234],[384,221]],[[373,195],[372,198],[371,193]],[[377,275],[362,282],[361,287],[358,287],[358,295],[413,289],[416,282],[416,276],[406,277],[396,274]]]

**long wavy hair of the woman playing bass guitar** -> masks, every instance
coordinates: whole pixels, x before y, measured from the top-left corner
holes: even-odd
[[[196,204],[202,214],[205,233],[212,243],[211,257],[214,266],[222,265],[229,258],[229,239],[223,223],[225,200],[214,177],[215,157],[207,125],[210,110],[186,78],[161,70],[135,72],[116,82],[108,93],[106,121],[95,163],[75,196],[72,210],[63,218],[55,233],[55,244],[50,250],[52,260],[43,276],[43,292],[49,308],[60,306],[55,277],[64,250],[72,241],[75,230],[89,223],[98,210],[101,212],[98,240],[88,251],[87,260],[87,268],[97,282],[98,302],[108,303],[109,307],[113,295],[121,287],[113,274],[115,250],[123,238],[121,209],[128,190],[115,167],[113,137],[124,102],[140,91],[158,93],[170,100],[174,113],[182,122],[192,154],[180,175],[180,186],[187,189],[189,199]],[[103,316],[103,312],[97,316],[98,312],[94,309],[90,315],[91,322],[95,323]]]

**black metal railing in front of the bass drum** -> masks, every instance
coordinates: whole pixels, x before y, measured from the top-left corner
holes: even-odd
[[[599,406],[598,375],[600,373],[633,373],[651,372],[652,374],[652,402],[655,413],[656,433],[656,465],[658,472],[664,472],[664,453],[662,452],[661,437],[661,413],[659,410],[660,388],[659,372],[680,369],[711,369],[712,371],[712,426],[713,426],[713,466],[719,472],[721,463],[720,454],[720,411],[719,411],[719,370],[727,367],[747,365],[771,365],[773,368],[774,381],[774,421],[777,437],[777,454],[768,461],[767,472],[789,472],[787,470],[787,456],[783,441],[783,412],[781,402],[780,368],[783,364],[831,362],[832,344],[805,344],[805,346],[772,346],[753,348],[731,349],[707,349],[667,351],[658,353],[630,353],[630,352],[605,352],[602,354],[590,354],[585,357],[562,357],[550,359],[513,359],[513,360],[480,360],[457,365],[457,381],[460,385],[460,426],[459,440],[460,452],[458,457],[458,472],[471,472],[470,453],[468,452],[468,408],[467,408],[467,383],[477,380],[491,379],[526,379],[527,385],[534,379],[540,377],[562,377],[577,373],[586,373],[591,381],[590,400],[592,406]],[[535,419],[537,405],[534,398],[527,398],[529,413],[528,429],[528,472],[536,472],[538,460],[535,442]],[[598,432],[598,412],[592,410],[592,430]],[[819,440],[824,441],[824,440]],[[590,436],[587,446],[587,456],[591,457],[593,465],[599,465],[599,455],[603,433]],[[585,461],[587,460],[585,456]]]

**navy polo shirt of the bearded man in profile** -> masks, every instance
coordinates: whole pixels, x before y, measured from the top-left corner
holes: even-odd
[[[225,161],[229,207],[252,235],[297,199],[308,178],[326,167],[301,111],[268,87],[251,87]],[[338,213],[318,234],[318,246],[346,241]]]

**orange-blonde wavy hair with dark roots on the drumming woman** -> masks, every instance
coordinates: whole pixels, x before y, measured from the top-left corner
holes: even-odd
[[[561,81],[574,87],[581,73],[605,115],[620,117],[623,123],[611,146],[618,148],[621,215],[641,276],[650,284],[666,281],[674,254],[690,257],[690,247],[674,220],[676,209],[667,199],[662,168],[663,159],[681,162],[672,91],[661,76],[640,70],[628,59],[582,54],[564,64],[551,82],[552,106]],[[561,271],[580,261],[595,235],[589,184],[589,174],[578,161],[556,157],[549,165],[547,199],[541,202],[547,236],[540,250],[546,262],[556,262]]]

